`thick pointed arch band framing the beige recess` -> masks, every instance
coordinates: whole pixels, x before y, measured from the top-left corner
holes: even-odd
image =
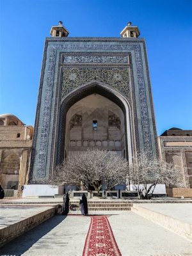
[[[61,100],[60,110],[58,113],[58,130],[56,132],[56,134],[58,134],[58,138],[56,138],[56,141],[58,141],[55,154],[56,164],[61,163],[65,155],[65,129],[68,109],[70,109],[70,107],[72,107],[77,101],[93,93],[106,97],[122,109],[125,123],[126,158],[129,160],[129,163],[132,163],[131,108],[129,106],[129,102],[122,93],[111,88],[108,84],[101,83],[100,81],[91,81],[72,90]]]

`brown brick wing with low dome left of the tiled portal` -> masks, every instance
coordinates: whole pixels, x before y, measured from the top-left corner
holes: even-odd
[[[0,184],[18,189],[28,182],[33,127],[12,114],[0,115]]]

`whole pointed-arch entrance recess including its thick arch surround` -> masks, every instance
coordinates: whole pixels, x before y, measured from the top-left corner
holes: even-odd
[[[131,163],[130,115],[125,97],[106,84],[93,81],[72,91],[61,102],[56,163],[65,152],[87,147],[111,148]]]

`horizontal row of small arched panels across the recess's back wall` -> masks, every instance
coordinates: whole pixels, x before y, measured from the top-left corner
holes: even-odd
[[[70,147],[121,147],[120,140],[70,140]]]

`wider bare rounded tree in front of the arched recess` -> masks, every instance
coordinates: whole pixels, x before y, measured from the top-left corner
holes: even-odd
[[[96,191],[106,186],[111,189],[117,184],[125,184],[127,161],[116,152],[88,150],[68,156],[67,161],[56,167],[49,178],[52,185],[73,185],[88,191]]]

